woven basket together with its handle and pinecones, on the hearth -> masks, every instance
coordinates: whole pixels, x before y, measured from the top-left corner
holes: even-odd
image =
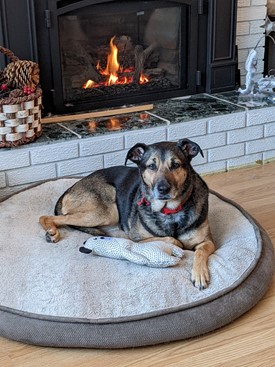
[[[34,88],[34,92],[29,95],[24,95],[22,89],[13,89],[7,97],[0,99],[0,148],[10,148],[30,143],[41,136],[42,90],[36,87],[36,83],[38,84],[37,75],[35,81],[31,81],[31,76],[26,73],[26,68],[24,69],[24,65],[27,65],[28,68],[34,65],[37,72],[39,70],[37,64],[19,60],[4,47],[0,47],[0,52],[8,56],[11,61],[2,71],[2,76],[5,70],[8,70],[9,73],[11,70],[15,70],[17,75],[21,72],[20,62],[23,65],[23,76],[19,75],[18,78],[8,79],[10,85],[22,88],[22,83],[26,83],[25,85],[28,83]],[[12,68],[13,65],[14,68]]]

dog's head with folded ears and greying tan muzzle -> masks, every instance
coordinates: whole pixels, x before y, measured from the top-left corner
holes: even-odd
[[[191,160],[203,152],[189,139],[177,143],[161,142],[151,145],[138,143],[126,157],[139,167],[147,191],[156,200],[179,198],[190,177]]]

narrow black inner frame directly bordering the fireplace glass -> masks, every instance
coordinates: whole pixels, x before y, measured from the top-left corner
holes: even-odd
[[[59,1],[61,2],[61,1]],[[63,1],[64,2],[64,1]],[[60,47],[59,47],[59,32],[57,28],[58,23],[58,16],[62,14],[67,14],[68,12],[78,10],[81,6],[82,8],[85,8],[86,6],[92,6],[92,5],[105,5],[108,3],[115,4],[117,7],[117,11],[119,12],[120,8],[123,9],[123,5],[126,4],[129,6],[129,4],[133,2],[135,5],[140,3],[140,9],[146,8],[146,5],[148,1],[129,1],[129,0],[83,0],[83,1],[76,1],[72,4],[69,4],[67,6],[60,8],[57,8],[58,2],[55,0],[48,0],[49,3],[49,11],[52,15],[52,25],[50,27],[50,42],[52,46],[52,54],[54,54],[54,58],[57,58],[61,60],[61,54],[60,54]],[[150,1],[152,3],[152,1]],[[160,90],[160,91],[154,91],[150,94],[134,94],[134,95],[128,95],[127,97],[117,97],[109,99],[109,96],[102,96],[100,100],[92,99],[90,102],[84,101],[80,103],[75,103],[73,106],[70,104],[65,105],[64,104],[64,98],[63,98],[63,84],[62,84],[62,78],[61,78],[61,65],[54,63],[54,59],[52,59],[52,65],[53,65],[53,77],[54,77],[54,90],[55,90],[55,103],[56,107],[59,112],[67,112],[67,111],[82,111],[83,109],[89,110],[94,108],[102,108],[106,106],[119,106],[121,104],[136,104],[141,102],[149,102],[153,100],[160,100],[165,98],[171,98],[171,97],[179,97],[181,95],[187,95],[187,94],[195,94],[196,93],[196,83],[195,83],[195,73],[196,73],[196,64],[192,62],[192,60],[197,60],[197,50],[194,47],[191,47],[192,44],[195,44],[197,39],[197,2],[195,3],[192,0],[155,0],[153,1],[154,6],[158,7],[162,3],[173,3],[173,4],[187,4],[191,8],[191,12],[189,14],[192,21],[188,19],[188,27],[190,27],[190,37],[188,42],[190,45],[188,45],[188,80],[187,80],[187,88],[177,88],[176,90]],[[193,4],[194,3],[194,4]],[[192,5],[191,5],[192,4]],[[138,8],[137,8],[138,9]],[[137,10],[138,11],[138,10]]]

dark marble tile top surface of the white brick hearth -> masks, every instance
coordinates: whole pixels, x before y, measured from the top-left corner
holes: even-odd
[[[33,144],[134,131],[243,111],[244,107],[238,105],[237,102],[238,93],[234,92],[223,93],[217,97],[199,94],[186,98],[157,101],[154,102],[152,110],[144,112],[44,124],[43,136]]]

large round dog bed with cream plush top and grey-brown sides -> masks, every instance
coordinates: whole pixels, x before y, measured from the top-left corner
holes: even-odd
[[[56,347],[125,348],[204,334],[251,309],[268,289],[274,254],[265,231],[238,205],[210,194],[216,252],[211,283],[190,281],[193,252],[154,268],[79,251],[90,236],[61,229],[45,241],[40,215],[77,179],[48,181],[0,203],[0,335]]]

